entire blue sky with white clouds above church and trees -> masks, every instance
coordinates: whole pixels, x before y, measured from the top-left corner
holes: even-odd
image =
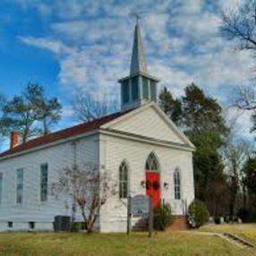
[[[160,78],[159,87],[181,96],[193,81],[228,107],[254,68],[250,53],[235,51],[219,35],[220,13],[237,1],[1,0],[0,91],[11,97],[39,82],[61,98],[61,125],[72,124],[75,91],[119,95],[138,12],[149,73]],[[238,127],[252,137],[249,115],[241,115]]]

